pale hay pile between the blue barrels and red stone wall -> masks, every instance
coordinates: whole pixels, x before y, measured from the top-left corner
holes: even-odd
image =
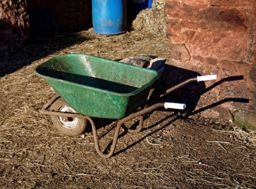
[[[142,10],[133,21],[133,29],[156,36],[165,36],[167,17],[164,14],[165,0],[154,0],[152,9]]]

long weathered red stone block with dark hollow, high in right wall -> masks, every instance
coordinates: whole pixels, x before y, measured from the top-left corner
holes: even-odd
[[[175,4],[175,5],[174,5]],[[183,4],[180,10],[176,3],[172,2],[166,8],[165,14],[168,16],[170,26],[175,26],[174,19],[182,22],[183,28],[193,30],[203,29],[208,31],[246,31],[248,18],[246,10],[224,9],[218,7],[207,7],[199,9],[197,6]],[[189,7],[189,8],[187,8]],[[195,9],[190,12],[190,9]],[[168,11],[169,10],[169,11]],[[186,13],[185,11],[189,11]],[[190,14],[194,14],[191,16]],[[170,19],[172,18],[172,19]],[[182,20],[180,20],[182,19]]]

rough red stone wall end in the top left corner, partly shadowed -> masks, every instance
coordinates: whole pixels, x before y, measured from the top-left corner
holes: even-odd
[[[0,57],[17,50],[29,36],[25,0],[0,2]]]

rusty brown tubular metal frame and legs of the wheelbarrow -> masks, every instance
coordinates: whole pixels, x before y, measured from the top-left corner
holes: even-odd
[[[197,80],[197,77],[194,77],[194,78],[190,78],[190,79],[187,79],[185,80],[184,82],[172,87],[172,88],[169,88],[166,90],[165,94],[162,94],[159,97],[162,97],[162,96],[165,96],[166,94],[170,93],[170,92],[173,92],[174,90],[178,89],[178,88],[181,88],[183,87],[184,85],[190,83],[190,82],[194,82]],[[154,111],[156,109],[158,109],[159,107],[164,107],[164,103],[156,103],[154,105],[151,105],[149,107],[145,107],[144,109],[136,112],[136,113],[132,113],[130,114],[129,116],[127,117],[124,117],[123,119],[121,120],[118,120],[117,122],[117,125],[116,125],[116,130],[115,130],[115,134],[114,134],[114,138],[113,138],[113,143],[112,143],[112,146],[111,146],[111,149],[110,149],[110,152],[105,154],[103,153],[101,150],[100,150],[100,146],[99,146],[99,140],[98,140],[98,133],[97,133],[97,130],[96,130],[96,126],[95,126],[95,123],[93,121],[93,119],[89,116],[84,116],[84,115],[81,115],[81,114],[76,114],[76,113],[65,113],[65,112],[56,112],[56,111],[49,111],[47,110],[48,107],[51,106],[51,104],[57,99],[59,98],[59,95],[56,94],[55,96],[53,96],[44,106],[42,106],[42,109],[39,110],[39,112],[41,114],[46,114],[46,115],[54,115],[54,116],[62,116],[62,117],[72,117],[72,118],[81,118],[81,119],[87,119],[90,121],[91,125],[92,125],[92,130],[93,130],[93,138],[94,138],[94,143],[95,143],[95,149],[97,151],[97,153],[99,154],[99,156],[103,157],[103,158],[109,158],[111,157],[114,152],[115,152],[115,149],[116,149],[116,144],[117,144],[117,140],[118,140],[118,136],[119,136],[119,132],[120,132],[120,128],[121,126],[131,120],[131,119],[134,119],[136,117],[139,117],[140,118],[140,121],[139,121],[139,125],[137,126],[136,129],[128,129],[129,132],[131,133],[137,133],[139,131],[141,131],[142,127],[143,127],[143,115],[148,113],[148,112],[151,112],[151,111]],[[153,97],[153,99],[155,99]],[[148,99],[146,102],[149,102],[149,101],[152,101],[151,99]],[[146,103],[145,103],[146,104]]]

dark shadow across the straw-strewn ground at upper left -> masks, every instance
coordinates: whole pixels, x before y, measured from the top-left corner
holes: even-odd
[[[10,74],[33,61],[45,58],[56,51],[68,48],[74,44],[91,40],[90,37],[80,36],[78,31],[39,34],[31,36],[24,47],[7,58],[0,58],[0,77]],[[72,49],[69,49],[72,52]]]

